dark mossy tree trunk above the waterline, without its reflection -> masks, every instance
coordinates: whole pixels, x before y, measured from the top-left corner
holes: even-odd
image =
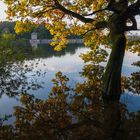
[[[121,95],[121,70],[126,47],[124,32],[115,33],[111,30],[112,51],[108,60],[104,81],[103,99],[119,100]]]

